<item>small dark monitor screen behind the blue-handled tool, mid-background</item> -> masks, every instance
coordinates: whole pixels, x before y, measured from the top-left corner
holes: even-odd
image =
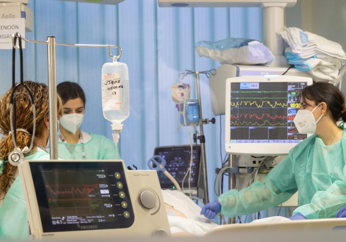
[[[175,178],[175,180],[181,185],[186,172],[190,166],[191,159],[191,146],[166,146],[156,147],[154,155],[159,155],[166,160],[166,170]],[[197,187],[198,169],[200,161],[200,146],[193,146],[192,150],[192,166],[191,166],[191,178],[190,187]],[[160,180],[161,188],[163,189],[175,189],[173,182],[167,178],[162,172],[157,173]],[[188,175],[189,176],[189,175]],[[188,188],[189,177],[185,178],[184,189]]]

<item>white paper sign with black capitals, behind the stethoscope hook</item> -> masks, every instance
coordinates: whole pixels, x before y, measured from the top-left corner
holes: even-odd
[[[0,49],[12,49],[11,34],[19,32],[25,38],[25,19],[24,18],[5,18],[0,19]],[[18,41],[16,41],[18,43]],[[22,41],[22,49],[25,48],[25,41]]]

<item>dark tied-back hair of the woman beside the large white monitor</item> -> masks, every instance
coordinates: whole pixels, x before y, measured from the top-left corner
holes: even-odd
[[[345,97],[333,84],[316,82],[302,90],[302,99],[311,100],[318,105],[321,102],[327,104],[327,113],[330,112],[335,121],[340,118],[346,122]]]

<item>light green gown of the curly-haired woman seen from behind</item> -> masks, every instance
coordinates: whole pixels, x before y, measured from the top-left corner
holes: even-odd
[[[38,150],[25,159],[49,160],[49,154]],[[20,177],[17,176],[0,207],[0,241],[28,239],[28,215]]]

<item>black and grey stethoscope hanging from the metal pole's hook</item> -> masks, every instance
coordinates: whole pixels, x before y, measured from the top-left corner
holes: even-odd
[[[18,45],[16,45],[16,40],[18,39]],[[24,161],[24,154],[29,153],[30,150],[33,148],[34,145],[34,138],[35,138],[35,130],[36,130],[36,111],[35,111],[35,104],[34,104],[34,97],[31,93],[29,87],[24,84],[24,78],[23,78],[23,50],[21,45],[21,36],[20,33],[12,34],[12,93],[10,96],[10,126],[11,126],[11,135],[13,140],[13,146],[15,147],[14,150],[9,154],[8,161],[13,166],[18,166],[19,163]],[[19,56],[20,56],[20,83],[16,85],[15,81],[15,67],[16,67],[16,49],[19,49]],[[13,109],[16,111],[16,90],[23,86],[28,93],[26,95],[30,98],[31,108],[33,112],[33,134],[31,138],[30,147],[25,146],[23,149],[20,149],[17,147],[17,112],[13,115]],[[14,116],[14,117],[13,117]]]

